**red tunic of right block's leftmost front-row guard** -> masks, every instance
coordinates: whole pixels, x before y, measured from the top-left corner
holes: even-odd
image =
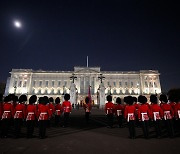
[[[124,118],[129,122],[130,120],[135,120],[136,108],[134,105],[126,105],[124,110]]]

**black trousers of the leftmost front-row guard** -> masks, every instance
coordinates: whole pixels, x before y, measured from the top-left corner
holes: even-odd
[[[7,137],[9,127],[11,125],[11,119],[3,119],[1,123],[1,136]]]

